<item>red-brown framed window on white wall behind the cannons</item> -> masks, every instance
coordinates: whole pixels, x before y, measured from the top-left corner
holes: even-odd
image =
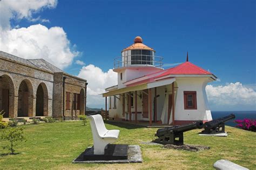
[[[184,109],[196,110],[197,109],[197,92],[184,91]]]

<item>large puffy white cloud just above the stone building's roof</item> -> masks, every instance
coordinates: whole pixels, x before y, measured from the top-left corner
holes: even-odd
[[[43,58],[60,69],[72,63],[79,52],[70,49],[63,28],[37,24],[0,32],[0,50],[25,59]]]

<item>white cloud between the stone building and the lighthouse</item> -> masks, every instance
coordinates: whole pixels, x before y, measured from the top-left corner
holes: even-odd
[[[101,93],[105,92],[106,87],[117,85],[117,73],[110,69],[103,72],[92,64],[83,66],[78,77],[84,78],[89,83],[87,86],[87,105],[89,107],[100,107],[104,105],[105,99]]]

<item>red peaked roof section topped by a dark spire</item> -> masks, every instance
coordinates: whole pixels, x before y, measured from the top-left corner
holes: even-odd
[[[159,74],[154,78],[159,78],[159,77],[167,76],[170,74],[212,74],[211,72],[206,71],[201,67],[196,66],[190,62],[182,63],[176,67],[166,69],[164,71],[165,72],[163,72],[162,74]]]

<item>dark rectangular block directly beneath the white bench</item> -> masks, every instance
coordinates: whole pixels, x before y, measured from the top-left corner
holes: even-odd
[[[93,147],[85,149],[84,161],[87,160],[126,160],[128,145],[107,145],[104,155],[93,154]]]

